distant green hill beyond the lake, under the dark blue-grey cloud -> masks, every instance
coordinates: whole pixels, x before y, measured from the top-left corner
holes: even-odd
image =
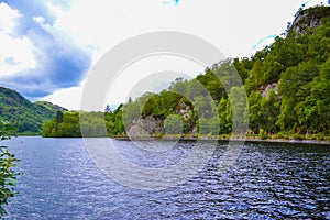
[[[18,134],[41,134],[45,121],[67,109],[46,101],[35,103],[18,91],[0,87],[0,120],[18,128]]]

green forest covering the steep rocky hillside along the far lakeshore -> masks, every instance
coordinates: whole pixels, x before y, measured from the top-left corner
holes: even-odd
[[[158,128],[144,128],[148,135],[226,138],[233,128],[240,131],[237,124],[249,124],[253,138],[330,141],[329,54],[330,8],[300,9],[286,32],[252,57],[221,61],[114,111],[89,112],[84,127],[90,127],[89,136],[100,135],[105,125],[108,135],[127,136],[152,119]],[[58,111],[44,124],[43,136],[81,136],[79,112]]]

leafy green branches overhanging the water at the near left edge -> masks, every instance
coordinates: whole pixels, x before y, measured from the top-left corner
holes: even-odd
[[[13,130],[13,127],[0,121],[0,141],[9,139],[6,134]],[[7,146],[0,145],[0,216],[6,215],[3,206],[8,204],[9,198],[16,194],[13,187],[16,185],[19,173],[13,170],[12,167],[15,166],[18,161]]]

